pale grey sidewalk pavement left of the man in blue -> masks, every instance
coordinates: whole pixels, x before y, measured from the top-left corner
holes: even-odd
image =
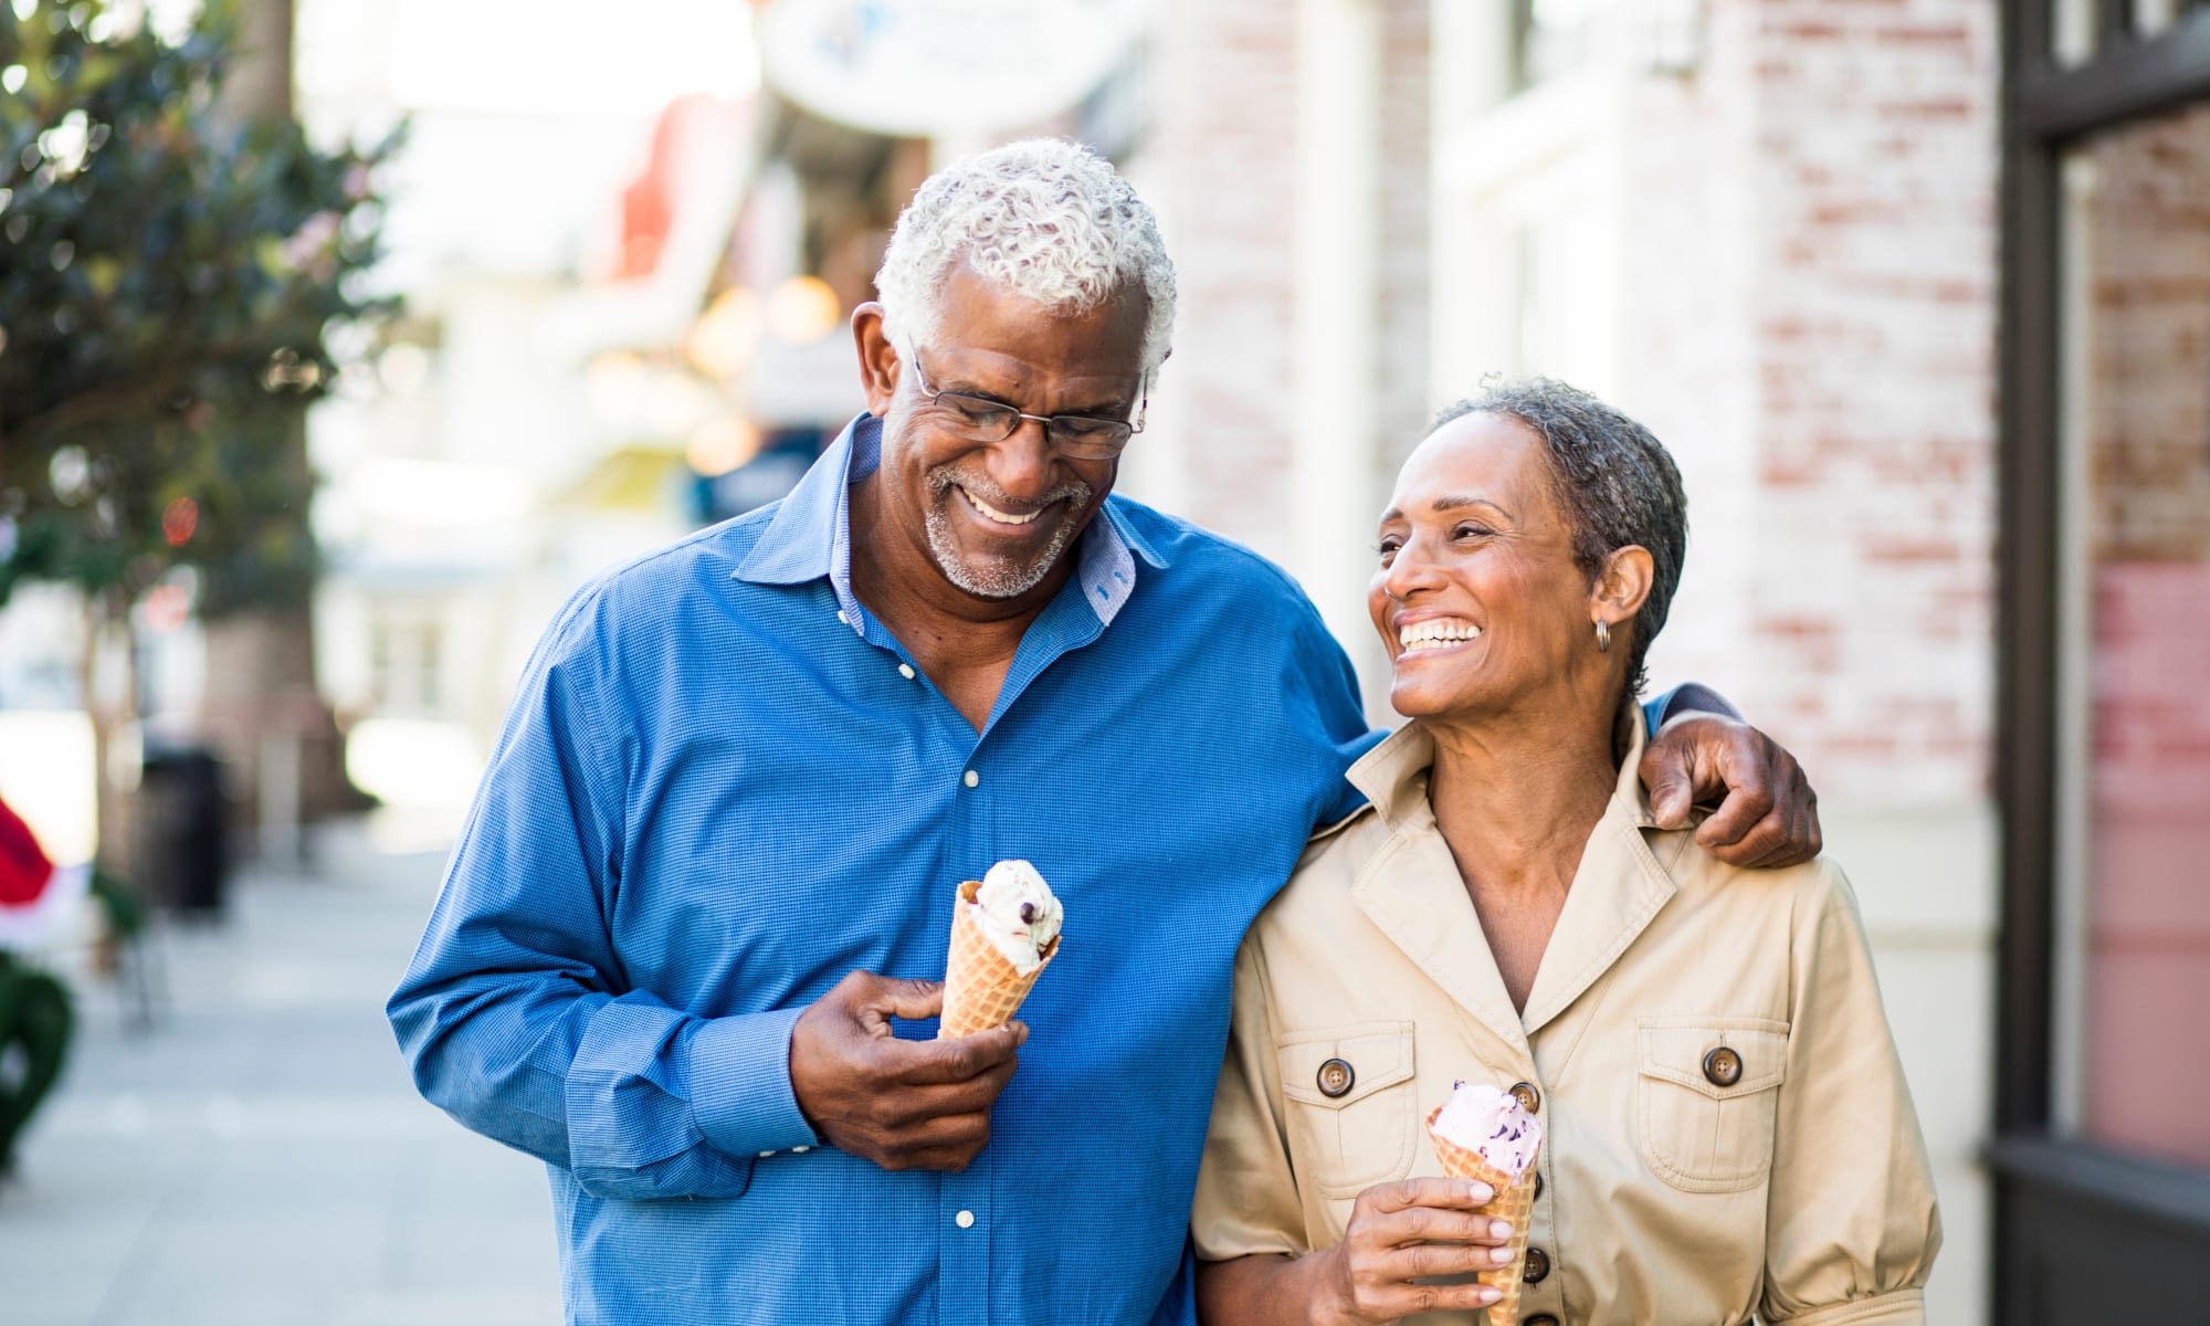
[[[415,1096],[382,1003],[444,851],[391,820],[168,926],[168,1012],[75,981],[62,1087],[0,1182],[11,1326],[559,1322],[544,1167]]]

